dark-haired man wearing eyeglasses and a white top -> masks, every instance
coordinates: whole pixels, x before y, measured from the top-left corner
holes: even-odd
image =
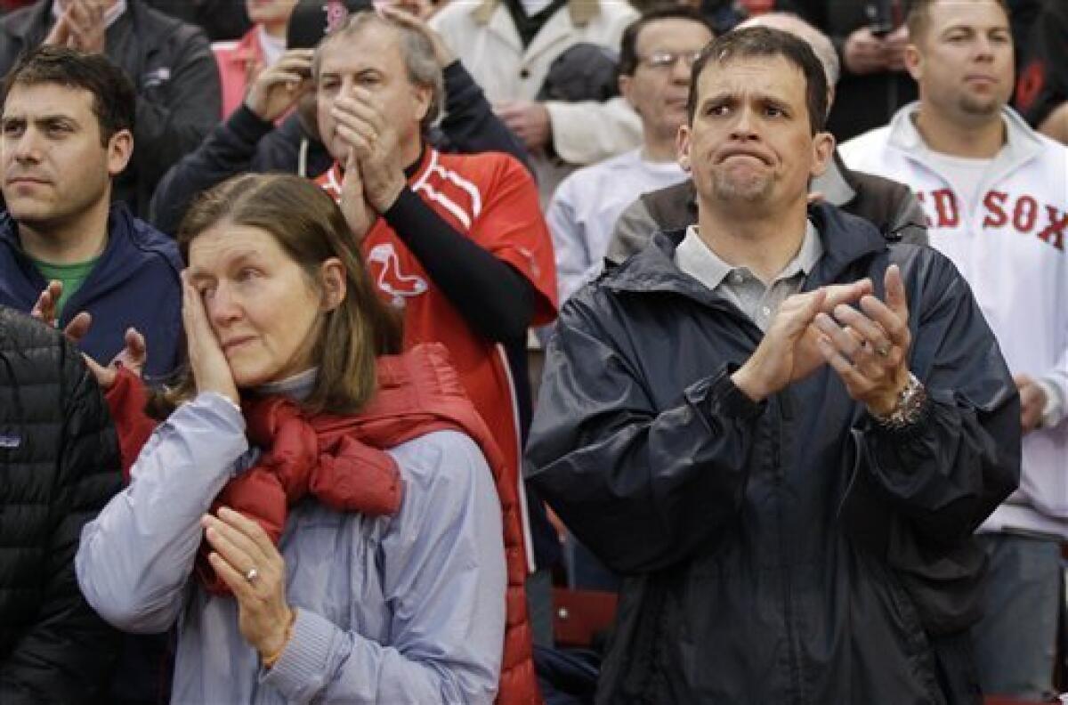
[[[564,179],[546,214],[563,301],[600,270],[619,214],[638,197],[686,179],[675,139],[686,123],[690,68],[712,30],[682,6],[646,11],[623,34],[619,92],[642,119],[642,146]]]

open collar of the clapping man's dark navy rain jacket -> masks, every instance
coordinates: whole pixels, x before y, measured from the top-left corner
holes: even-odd
[[[835,282],[854,262],[886,249],[875,225],[833,205],[813,205],[808,217],[822,240],[823,256],[806,279],[805,291]],[[675,265],[675,249],[685,235],[685,230],[656,233],[645,249],[606,273],[601,285],[615,292],[678,294],[706,304],[722,301]]]

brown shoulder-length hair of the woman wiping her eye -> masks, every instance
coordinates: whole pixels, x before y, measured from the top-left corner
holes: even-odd
[[[222,222],[270,233],[316,288],[320,265],[331,257],[341,260],[345,298],[325,314],[312,352],[319,371],[303,405],[313,412],[358,412],[377,388],[378,356],[400,351],[402,329],[399,316],[376,295],[341,208],[307,178],[235,176],[204,193],[182,221],[178,248],[187,263],[192,241]],[[175,401],[192,391],[189,377],[187,373],[175,390]]]

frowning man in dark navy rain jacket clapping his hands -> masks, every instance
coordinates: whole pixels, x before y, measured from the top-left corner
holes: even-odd
[[[563,308],[528,459],[625,576],[598,703],[979,701],[972,532],[1018,482],[1019,400],[945,257],[808,206],[826,100],[804,42],[711,43],[697,223]]]

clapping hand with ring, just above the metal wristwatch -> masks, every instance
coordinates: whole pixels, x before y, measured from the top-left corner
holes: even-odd
[[[834,317],[822,313],[816,327],[823,334],[819,347],[823,359],[846,385],[849,396],[884,417],[897,405],[898,393],[909,380],[909,304],[897,265],[884,277],[885,302],[870,294],[860,300],[861,310],[838,306]]]

